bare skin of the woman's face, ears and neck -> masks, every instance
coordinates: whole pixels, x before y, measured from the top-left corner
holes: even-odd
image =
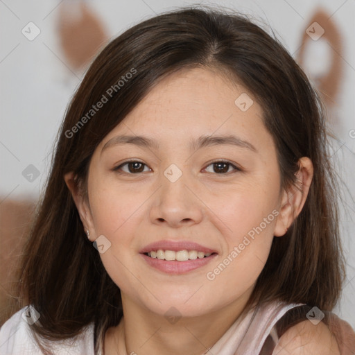
[[[242,93],[254,101],[245,112],[234,103]],[[151,89],[98,145],[89,166],[89,202],[73,173],[64,177],[90,240],[104,235],[111,243],[100,256],[121,289],[124,317],[107,331],[105,354],[178,355],[189,349],[200,355],[241,315],[272,239],[282,237],[300,214],[313,176],[310,159],[302,157],[297,178],[303,192],[281,189],[275,144],[261,116],[261,106],[243,86],[210,69],[184,69]],[[202,135],[231,134],[256,151],[230,144],[189,148]],[[144,135],[159,148],[121,144],[103,150],[116,135]],[[145,165],[131,171],[125,165],[121,174],[113,170],[128,159]],[[211,164],[221,159],[241,171]],[[164,175],[171,164],[182,172],[175,182]],[[207,279],[273,210],[277,218],[223,272]],[[218,255],[198,270],[167,275],[139,254],[162,239],[194,241]],[[164,316],[172,306],[181,317],[173,324]]]

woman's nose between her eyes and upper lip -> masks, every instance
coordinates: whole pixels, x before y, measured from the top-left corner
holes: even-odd
[[[162,174],[160,189],[155,193],[150,207],[150,220],[157,225],[187,227],[200,223],[203,216],[203,203],[198,198],[196,188],[182,173],[178,180],[169,180]]]

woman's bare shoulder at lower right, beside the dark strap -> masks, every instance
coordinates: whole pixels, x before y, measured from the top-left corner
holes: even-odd
[[[324,322],[313,324],[304,320],[288,329],[279,338],[272,354],[278,355],[340,355],[334,334]]]

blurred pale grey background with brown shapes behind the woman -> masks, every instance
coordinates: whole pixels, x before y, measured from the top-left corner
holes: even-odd
[[[268,33],[271,27],[322,93],[332,160],[343,180],[347,279],[334,311],[355,329],[354,0],[0,0],[0,325],[15,301],[17,261],[55,136],[89,63],[139,21],[197,3],[248,14]]]

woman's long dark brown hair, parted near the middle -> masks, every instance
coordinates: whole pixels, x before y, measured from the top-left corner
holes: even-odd
[[[90,159],[103,137],[159,80],[193,67],[214,69],[257,98],[277,147],[282,187],[295,185],[300,157],[313,162],[313,182],[304,208],[286,236],[274,238],[250,303],[284,300],[324,310],[334,307],[344,267],[337,182],[318,95],[278,40],[245,16],[180,8],[143,21],[112,40],[71,100],[24,252],[21,296],[40,312],[40,326],[33,324],[35,334],[64,339],[94,322],[97,349],[105,330],[119,323],[119,287],[85,238],[63,177],[73,171],[84,191]],[[122,87],[116,85],[125,73],[134,71]],[[110,100],[84,120],[85,125],[78,125],[112,85],[116,90]]]

